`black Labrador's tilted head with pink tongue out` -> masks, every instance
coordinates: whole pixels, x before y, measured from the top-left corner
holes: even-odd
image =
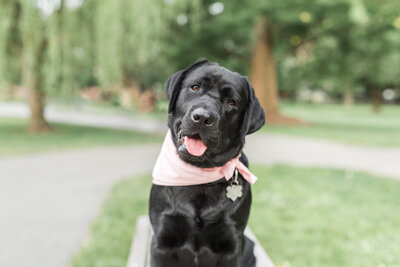
[[[236,157],[264,111],[246,77],[207,60],[168,78],[168,126],[185,162],[210,168]]]

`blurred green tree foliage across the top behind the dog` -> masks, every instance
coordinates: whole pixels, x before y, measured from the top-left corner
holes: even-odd
[[[0,1],[0,84],[20,85],[43,34],[44,87],[160,88],[200,58],[250,74],[254,25],[267,18],[280,90],[365,95],[400,87],[400,2],[392,0]],[[17,6],[21,16],[16,16]],[[221,9],[222,8],[222,9]],[[33,50],[32,50],[33,49]]]

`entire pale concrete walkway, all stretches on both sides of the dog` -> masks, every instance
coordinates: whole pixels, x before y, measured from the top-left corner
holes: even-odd
[[[21,111],[1,106],[0,116]],[[63,116],[65,120],[59,122],[74,123],[70,119],[76,117],[85,125],[165,131],[160,122],[147,120],[141,128],[140,121],[118,120],[116,115],[94,120],[92,115],[73,112],[63,112]],[[159,147],[118,146],[0,158],[0,266],[67,266],[111,185],[150,172]],[[400,179],[400,149],[257,133],[248,136],[245,153],[251,163],[335,167]]]

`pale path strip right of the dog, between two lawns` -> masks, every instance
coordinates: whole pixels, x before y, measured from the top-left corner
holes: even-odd
[[[276,134],[248,136],[251,162],[357,170],[400,179],[400,149],[359,147]]]

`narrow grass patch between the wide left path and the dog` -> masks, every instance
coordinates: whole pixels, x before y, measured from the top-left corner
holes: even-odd
[[[150,184],[151,179],[145,176],[121,181],[112,188],[71,267],[126,266],[136,218],[148,213]]]

